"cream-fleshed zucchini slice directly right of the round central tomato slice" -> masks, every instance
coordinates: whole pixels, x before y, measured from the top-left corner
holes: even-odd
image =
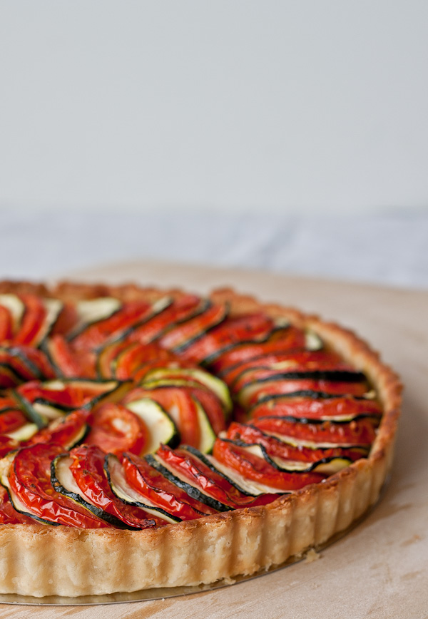
[[[180,434],[173,419],[155,400],[149,398],[134,400],[126,404],[126,408],[138,415],[148,428],[150,442],[146,447],[146,453],[152,454],[161,443],[170,447],[180,443]]]

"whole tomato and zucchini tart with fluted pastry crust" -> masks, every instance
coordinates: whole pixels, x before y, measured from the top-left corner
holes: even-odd
[[[213,583],[346,529],[401,386],[352,332],[232,290],[0,285],[0,593]]]

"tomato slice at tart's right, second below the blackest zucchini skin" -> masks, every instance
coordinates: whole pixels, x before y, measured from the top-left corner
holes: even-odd
[[[351,396],[331,397],[330,394],[302,392],[285,394],[256,404],[250,410],[250,419],[271,416],[304,417],[307,419],[350,418],[361,414],[382,416],[382,408],[375,400]]]

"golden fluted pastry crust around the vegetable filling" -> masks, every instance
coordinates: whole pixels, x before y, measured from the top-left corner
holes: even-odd
[[[79,285],[50,289],[26,282],[1,282],[0,292],[35,292],[62,300],[100,295],[121,300],[156,300],[165,291],[136,285]],[[166,291],[178,297],[179,290]],[[377,389],[384,414],[370,456],[266,506],[240,508],[193,521],[143,531],[65,526],[0,526],[0,593],[93,595],[143,588],[213,583],[279,565],[325,543],[377,501],[392,464],[402,386],[379,355],[354,333],[306,316],[297,309],[263,305],[233,290],[215,290],[232,314],[257,309],[310,327],[361,369]],[[197,558],[197,561],[195,561]]]

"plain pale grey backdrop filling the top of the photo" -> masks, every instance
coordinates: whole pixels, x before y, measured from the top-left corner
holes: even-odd
[[[0,0],[0,206],[428,205],[426,0]]]

